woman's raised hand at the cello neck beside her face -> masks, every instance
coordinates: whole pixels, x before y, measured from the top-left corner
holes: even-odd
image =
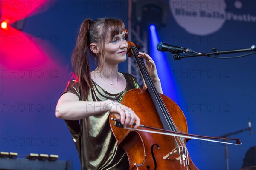
[[[145,58],[146,63],[147,63],[146,68],[147,68],[148,73],[150,74],[152,80],[154,82],[159,81],[159,77],[157,74],[157,68],[156,68],[156,65],[155,65],[153,59],[148,54],[142,53],[142,52],[139,52],[138,57]]]

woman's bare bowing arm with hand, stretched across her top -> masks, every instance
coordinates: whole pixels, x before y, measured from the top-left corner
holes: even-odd
[[[124,127],[131,126],[134,122],[136,122],[134,128],[140,125],[140,119],[134,111],[121,103],[112,100],[100,102],[79,101],[78,96],[70,92],[63,94],[58,100],[55,115],[59,119],[79,120],[106,111],[114,113],[116,119],[120,119]]]

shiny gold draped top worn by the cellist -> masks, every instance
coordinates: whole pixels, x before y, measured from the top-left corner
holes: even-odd
[[[88,95],[88,101],[116,100],[120,102],[123,95],[130,89],[140,88],[134,77],[122,73],[126,79],[126,88],[118,94],[110,94],[93,82]],[[81,94],[76,88],[76,82],[70,81],[64,93],[76,94],[80,100]],[[88,104],[88,108],[92,105]],[[102,108],[104,106],[97,106]],[[85,108],[86,109],[86,108]],[[109,111],[90,116],[78,121],[66,120],[76,149],[78,150],[81,167],[86,170],[127,170],[128,158],[121,147],[117,147],[116,139],[109,125]]]

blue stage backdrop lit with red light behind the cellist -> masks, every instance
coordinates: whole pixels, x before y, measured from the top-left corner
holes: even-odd
[[[58,154],[81,169],[71,135],[55,118],[55,105],[71,77],[70,56],[79,26],[90,17],[117,17],[127,25],[126,0],[60,0],[1,2],[1,22],[25,17],[16,28],[1,29],[0,151]],[[253,0],[166,1],[168,23],[157,28],[160,42],[211,52],[256,45]],[[235,56],[241,54],[228,54]],[[157,56],[154,56],[157,57]],[[236,59],[192,57],[173,60],[166,53],[173,97],[183,110],[189,133],[222,136],[256,130],[256,54]],[[127,70],[127,63],[120,71]],[[171,83],[172,82],[172,83]],[[163,89],[167,92],[168,89]],[[254,133],[252,132],[252,133]],[[255,133],[232,135],[241,146],[228,146],[229,166],[238,170]],[[202,170],[226,169],[224,145],[191,140],[192,160]],[[22,157],[22,156],[21,156]]]

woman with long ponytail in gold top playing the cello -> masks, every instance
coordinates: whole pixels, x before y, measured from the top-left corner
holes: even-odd
[[[66,121],[82,169],[129,169],[125,151],[116,147],[109,125],[110,112],[124,127],[134,122],[134,128],[140,125],[140,118],[134,111],[119,103],[126,91],[140,88],[130,74],[118,72],[118,64],[126,60],[128,46],[123,30],[121,20],[84,20],[72,54],[75,80],[68,83],[57,104],[56,117]],[[89,52],[98,63],[93,71],[90,71]],[[146,59],[148,72],[158,92],[162,93],[153,60],[145,53],[139,53],[139,57]]]

